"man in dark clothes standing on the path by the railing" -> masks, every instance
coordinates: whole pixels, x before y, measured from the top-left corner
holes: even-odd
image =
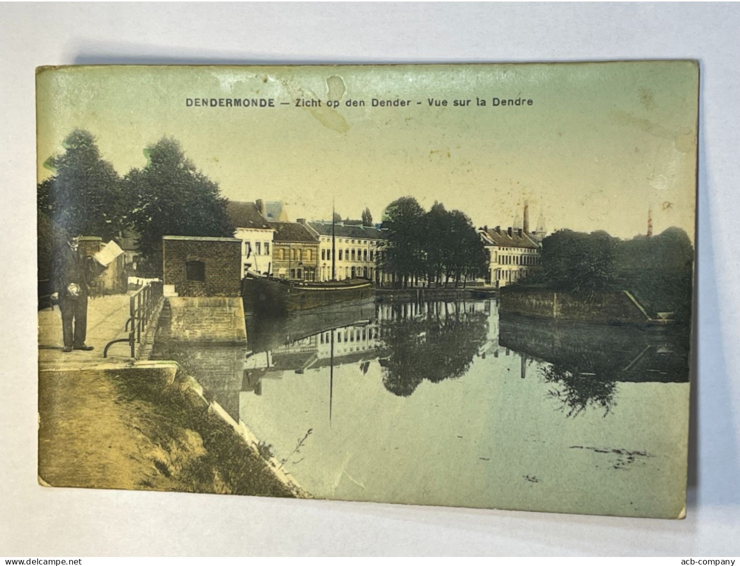
[[[85,344],[87,334],[87,284],[92,277],[91,257],[80,255],[79,237],[72,237],[54,251],[53,300],[58,300],[64,348],[61,351],[92,350]],[[74,331],[73,331],[74,321]]]

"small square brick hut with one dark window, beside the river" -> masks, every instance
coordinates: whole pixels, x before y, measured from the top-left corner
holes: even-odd
[[[241,248],[235,237],[164,236],[164,285],[181,297],[239,297]]]

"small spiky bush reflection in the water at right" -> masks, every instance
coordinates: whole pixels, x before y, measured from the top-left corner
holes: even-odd
[[[562,403],[560,410],[568,417],[575,417],[591,405],[601,408],[604,416],[616,405],[616,372],[608,360],[595,359],[588,354],[573,356],[565,363],[554,363],[542,368],[545,383],[556,385],[548,391]]]

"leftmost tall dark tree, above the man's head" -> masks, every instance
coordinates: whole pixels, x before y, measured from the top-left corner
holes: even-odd
[[[127,224],[127,202],[121,178],[101,158],[95,137],[75,129],[62,142],[64,153],[44,166],[54,175],[38,184],[38,211],[67,235],[101,236],[108,240]]]

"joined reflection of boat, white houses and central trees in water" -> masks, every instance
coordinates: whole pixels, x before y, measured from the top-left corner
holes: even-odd
[[[490,346],[490,301],[346,306],[323,318],[326,329],[301,337],[295,336],[302,334],[298,328],[306,329],[297,324],[306,321],[302,313],[278,319],[249,317],[247,335],[253,337],[249,346],[254,354],[247,360],[242,391],[259,395],[261,380],[280,379],[283,371],[303,374],[354,364],[365,375],[371,360],[377,360],[386,390],[408,397],[424,380],[440,383],[461,377],[484,346]],[[320,319],[315,312],[309,316]],[[342,318],[353,322],[342,324]],[[329,326],[332,322],[337,326]]]

